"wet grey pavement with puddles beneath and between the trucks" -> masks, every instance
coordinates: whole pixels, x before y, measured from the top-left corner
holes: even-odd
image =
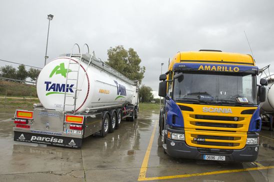
[[[15,142],[8,117],[0,116],[0,181],[274,181],[274,131],[260,132],[256,162],[217,162],[164,154],[157,111],[87,137],[81,149]]]

